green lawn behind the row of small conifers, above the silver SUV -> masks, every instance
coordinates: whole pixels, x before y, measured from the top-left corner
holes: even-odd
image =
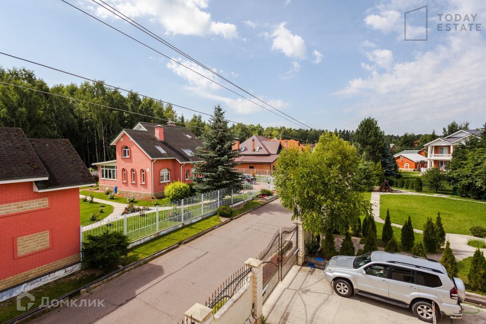
[[[411,216],[414,228],[422,230],[427,217],[432,217],[435,221],[437,212],[440,212],[447,233],[471,235],[469,229],[472,226],[486,227],[486,204],[468,200],[402,194],[382,195],[380,218],[385,219],[387,209],[390,209],[392,223],[403,224]]]

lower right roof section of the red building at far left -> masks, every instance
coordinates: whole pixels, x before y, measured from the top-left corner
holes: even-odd
[[[29,138],[29,142],[49,173],[49,180],[35,181],[38,189],[96,183],[68,140]]]

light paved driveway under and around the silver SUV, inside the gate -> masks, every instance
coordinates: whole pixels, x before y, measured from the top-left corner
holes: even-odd
[[[464,305],[464,312],[477,312],[477,308]],[[336,295],[324,277],[324,271],[294,266],[263,305],[267,324],[420,324],[424,323],[406,308],[389,305],[373,299]],[[444,316],[437,323],[451,323]],[[486,310],[464,314],[453,323],[486,323]]]

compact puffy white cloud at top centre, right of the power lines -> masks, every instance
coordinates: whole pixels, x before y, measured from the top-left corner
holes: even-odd
[[[270,37],[273,38],[272,50],[278,50],[287,57],[305,59],[307,48],[304,39],[299,35],[294,35],[285,27],[287,23],[282,22],[275,26]]]

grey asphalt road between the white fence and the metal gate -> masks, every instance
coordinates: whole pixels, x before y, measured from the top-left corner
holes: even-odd
[[[291,213],[275,200],[79,297],[105,307],[60,307],[32,322],[180,323],[282,226],[292,226]]]

